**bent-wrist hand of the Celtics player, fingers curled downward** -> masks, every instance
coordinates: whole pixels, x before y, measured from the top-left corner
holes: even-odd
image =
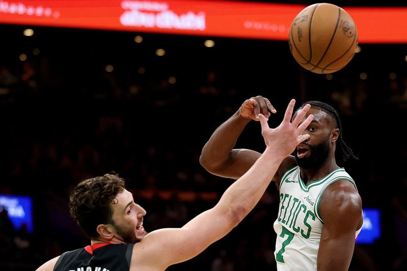
[[[244,101],[239,110],[241,117],[246,119],[251,118],[255,121],[259,121],[257,118],[258,114],[263,114],[268,119],[271,113],[276,112],[276,109],[270,103],[269,99],[261,96],[252,97]]]

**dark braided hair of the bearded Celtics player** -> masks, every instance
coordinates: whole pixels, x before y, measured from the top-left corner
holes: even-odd
[[[358,160],[358,158],[353,154],[352,149],[346,145],[345,141],[343,141],[343,138],[342,138],[342,123],[340,121],[339,114],[335,110],[335,108],[333,108],[332,106],[330,106],[330,105],[328,105],[326,103],[323,103],[323,102],[309,101],[309,102],[303,103],[300,106],[299,109],[303,108],[306,104],[310,104],[311,107],[319,107],[324,112],[330,114],[333,118],[335,118],[337,128],[339,129],[339,138],[337,140],[337,143],[340,146],[340,152],[341,152],[342,160],[344,162],[347,161],[347,160],[350,160],[350,159]]]

